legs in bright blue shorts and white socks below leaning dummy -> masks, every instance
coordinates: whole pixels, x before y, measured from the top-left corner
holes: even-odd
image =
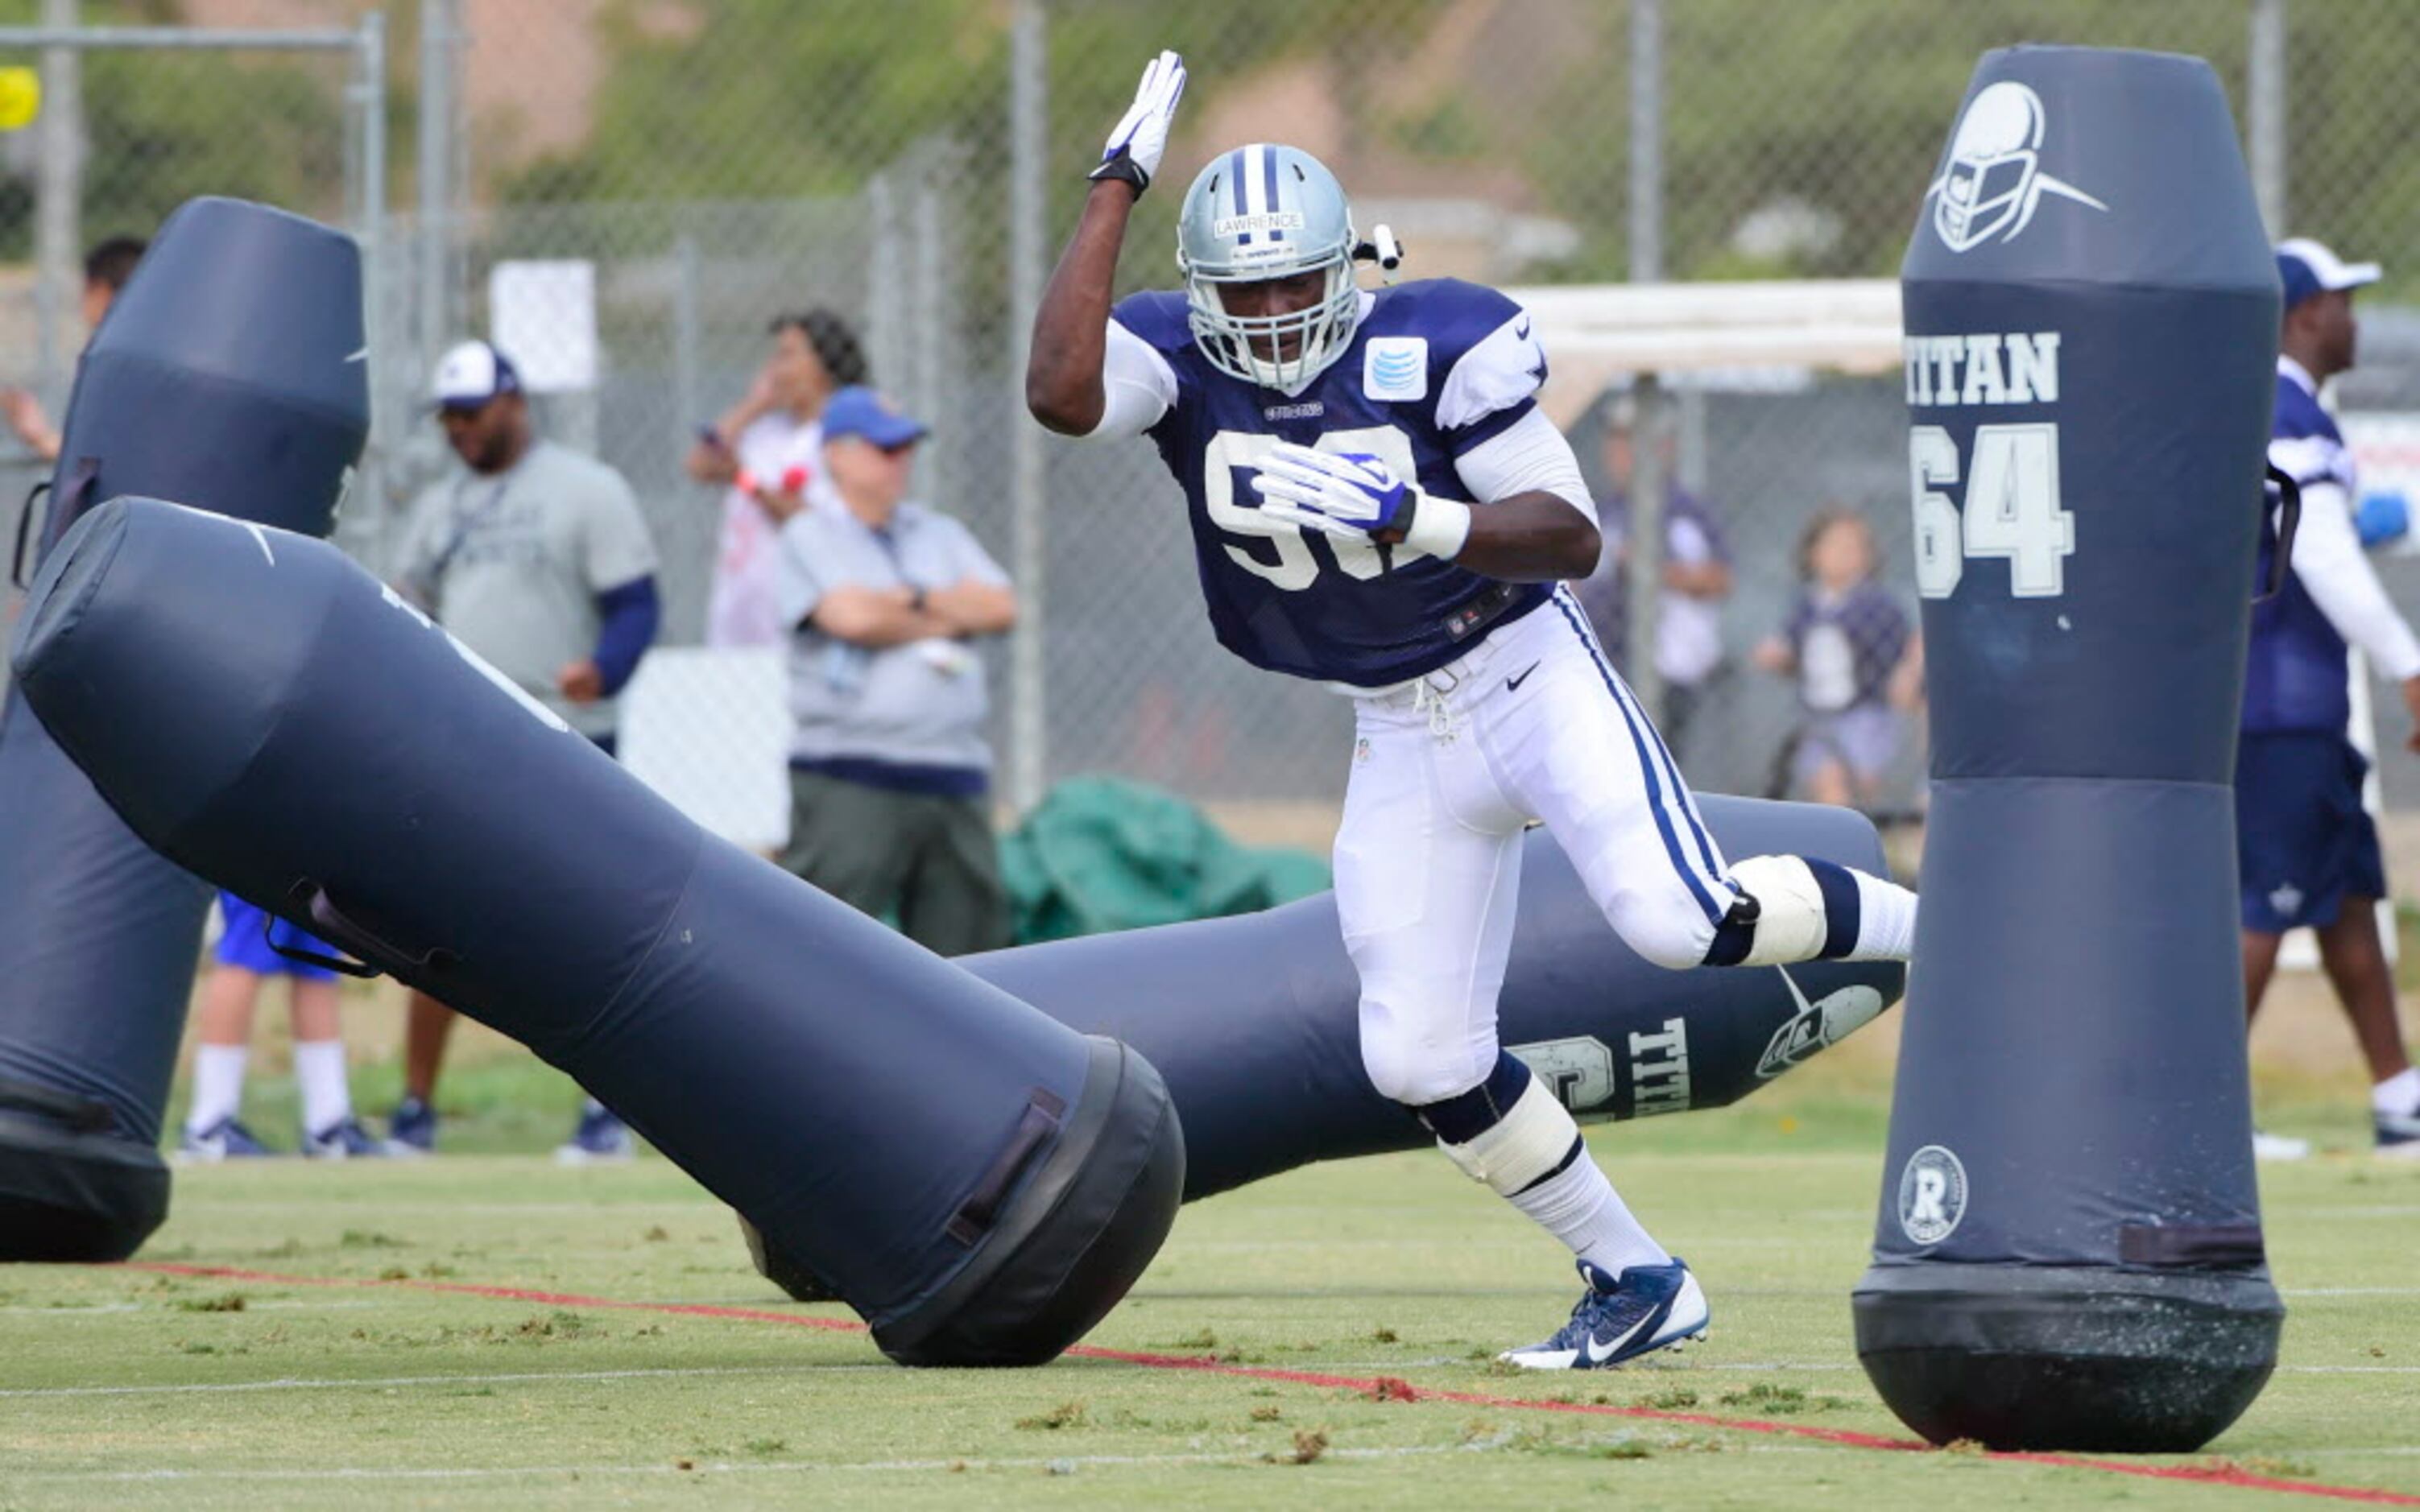
[[[353,1091],[346,1084],[344,1038],[336,1031],[336,973],[307,960],[290,960],[269,946],[269,934],[286,948],[336,956],[286,919],[264,914],[235,893],[218,895],[225,931],[218,936],[215,965],[201,989],[201,1028],[194,1048],[194,1106],[184,1118],[177,1156],[184,1161],[223,1161],[230,1156],[271,1154],[237,1113],[244,1101],[244,1062],[252,1055],[252,1009],[261,982],[286,977],[293,1004],[295,1081],[302,1089],[302,1154],[348,1159],[385,1154],[378,1139],[353,1118]],[[264,929],[266,927],[266,929]]]

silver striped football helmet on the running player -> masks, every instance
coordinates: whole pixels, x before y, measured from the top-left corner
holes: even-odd
[[[1300,392],[1333,363],[1360,319],[1353,206],[1316,157],[1251,143],[1210,162],[1176,218],[1193,341],[1220,373]],[[1220,283],[1326,271],[1321,298],[1292,314],[1229,314]],[[1285,341],[1300,344],[1285,356]],[[1263,356],[1268,353],[1268,356]]]

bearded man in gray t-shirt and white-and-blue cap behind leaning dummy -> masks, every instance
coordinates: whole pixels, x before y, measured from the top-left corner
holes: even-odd
[[[411,506],[399,585],[457,641],[610,755],[615,694],[656,639],[656,544],[620,472],[540,440],[511,358],[465,341],[428,399],[460,469]],[[402,1154],[436,1147],[438,1064],[453,1009],[411,994],[404,1101],[387,1127]],[[588,1098],[559,1152],[627,1159],[629,1130]]]

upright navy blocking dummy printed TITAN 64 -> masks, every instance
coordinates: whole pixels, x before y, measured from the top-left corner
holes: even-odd
[[[1934,1442],[2190,1452],[2282,1323],[2231,798],[2280,293],[2217,75],[1984,56],[1902,293],[1934,786],[1859,1357]]]

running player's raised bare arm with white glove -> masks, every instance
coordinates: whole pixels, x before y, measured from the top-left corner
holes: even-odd
[[[1135,104],[1101,148],[1084,215],[1050,273],[1041,310],[1033,312],[1026,409],[1060,435],[1091,435],[1101,426],[1108,404],[1101,363],[1108,348],[1108,295],[1118,276],[1118,249],[1125,244],[1125,220],[1135,201],[1159,172],[1169,121],[1176,119],[1183,92],[1186,63],[1176,53],[1159,53],[1142,70]]]

